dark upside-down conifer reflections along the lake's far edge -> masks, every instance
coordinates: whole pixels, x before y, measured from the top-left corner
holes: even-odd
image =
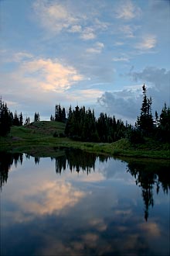
[[[60,152],[60,153],[59,153]],[[62,152],[62,154],[61,154]],[[56,154],[58,157],[52,157],[56,161],[56,174],[62,173],[66,168],[70,168],[70,171],[80,170],[86,171],[87,175],[90,171],[95,171],[95,161],[97,158],[100,162],[107,161],[109,157],[97,156],[96,154],[90,154],[81,150],[62,149],[56,148]],[[30,155],[26,154],[26,158]],[[23,154],[0,154],[0,189],[8,180],[8,171],[12,167],[12,164],[22,164]],[[40,157],[35,157],[35,164],[39,164]],[[169,164],[167,161],[155,162],[155,161],[134,161],[128,160],[128,173],[134,178],[136,185],[141,187],[141,195],[145,203],[145,220],[148,220],[149,207],[154,206],[154,189],[158,194],[160,186],[164,193],[168,193],[170,189],[170,172]]]

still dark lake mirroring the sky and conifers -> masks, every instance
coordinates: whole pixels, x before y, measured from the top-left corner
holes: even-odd
[[[169,255],[167,163],[0,154],[1,255]]]

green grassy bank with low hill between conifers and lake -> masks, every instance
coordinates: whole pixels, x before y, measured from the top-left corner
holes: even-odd
[[[114,157],[170,158],[169,145],[151,139],[146,139],[145,144],[138,145],[130,144],[127,139],[111,144],[80,142],[62,137],[64,127],[64,123],[49,121],[31,123],[28,126],[12,126],[8,137],[0,137],[0,150],[52,157],[56,154],[56,147],[74,147]],[[53,137],[53,134],[56,137]]]

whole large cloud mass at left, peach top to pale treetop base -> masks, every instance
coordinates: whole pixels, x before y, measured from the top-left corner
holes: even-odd
[[[67,107],[71,103],[71,94],[66,91],[84,79],[75,67],[58,59],[29,57],[20,52],[12,54],[9,61],[4,63],[6,67],[1,72],[2,98],[5,97],[12,112],[17,109],[23,116],[32,117],[37,110],[46,119],[56,100]]]

